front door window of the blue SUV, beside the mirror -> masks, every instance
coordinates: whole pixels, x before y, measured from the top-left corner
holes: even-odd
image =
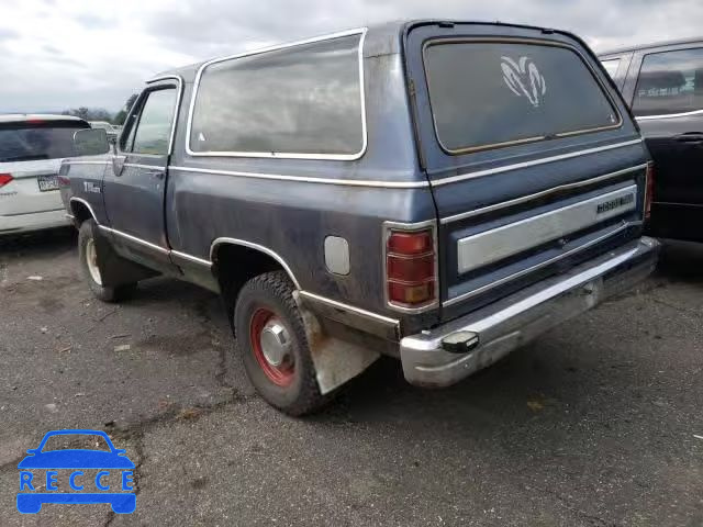
[[[132,152],[134,154],[168,154],[168,143],[174,122],[176,89],[166,88],[152,91],[144,105],[134,132]],[[130,142],[127,141],[127,145]]]

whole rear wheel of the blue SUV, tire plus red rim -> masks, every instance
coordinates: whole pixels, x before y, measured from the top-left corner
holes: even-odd
[[[320,393],[293,285],[282,271],[244,284],[234,310],[237,348],[256,391],[289,415],[314,412]]]

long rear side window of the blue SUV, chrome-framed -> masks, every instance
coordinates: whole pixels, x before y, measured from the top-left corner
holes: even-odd
[[[361,35],[208,66],[190,133],[196,153],[355,156],[364,149]]]

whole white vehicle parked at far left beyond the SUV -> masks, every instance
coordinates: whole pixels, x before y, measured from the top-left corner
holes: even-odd
[[[58,170],[76,156],[76,131],[88,127],[67,115],[0,115],[0,236],[70,225]]]

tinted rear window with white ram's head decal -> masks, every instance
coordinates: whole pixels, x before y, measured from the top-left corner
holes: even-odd
[[[515,42],[431,43],[429,101],[450,153],[620,125],[620,115],[570,48]]]

